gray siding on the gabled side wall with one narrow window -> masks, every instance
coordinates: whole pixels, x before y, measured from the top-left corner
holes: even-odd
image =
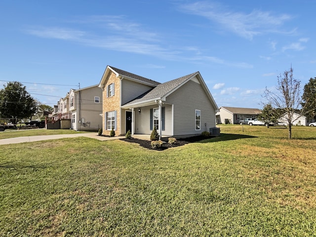
[[[166,98],[174,104],[174,135],[200,134],[216,126],[215,108],[203,87],[190,80]],[[196,130],[195,111],[201,111],[200,130]],[[206,125],[205,125],[206,124]]]

